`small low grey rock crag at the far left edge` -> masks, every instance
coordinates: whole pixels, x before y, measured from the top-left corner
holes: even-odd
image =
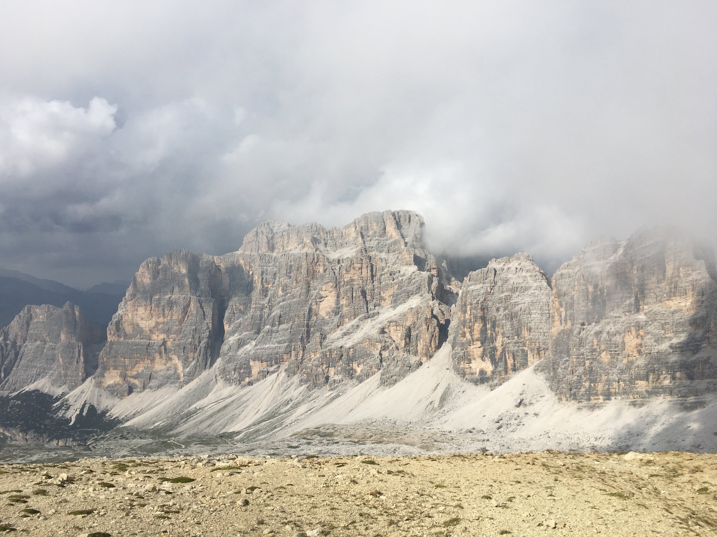
[[[97,368],[105,334],[78,306],[26,306],[0,330],[0,392],[39,382],[42,390],[70,391]]]

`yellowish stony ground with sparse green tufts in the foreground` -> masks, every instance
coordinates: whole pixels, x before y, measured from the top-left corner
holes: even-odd
[[[87,458],[0,489],[0,533],[39,537],[717,533],[713,454]]]

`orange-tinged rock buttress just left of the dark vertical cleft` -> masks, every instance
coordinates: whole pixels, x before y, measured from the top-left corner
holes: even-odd
[[[180,250],[142,263],[108,326],[98,383],[128,395],[194,380],[219,354],[221,293],[212,256]]]

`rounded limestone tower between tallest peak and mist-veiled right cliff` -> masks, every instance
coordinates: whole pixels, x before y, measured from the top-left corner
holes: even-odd
[[[543,359],[550,300],[550,276],[524,253],[468,274],[450,324],[455,372],[471,382],[500,382]]]

